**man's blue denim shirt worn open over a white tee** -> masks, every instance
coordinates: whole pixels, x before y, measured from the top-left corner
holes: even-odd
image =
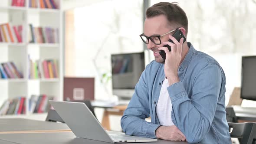
[[[219,63],[194,49],[178,69],[180,82],[167,87],[171,98],[173,123],[189,143],[231,144],[225,111],[225,74]],[[141,74],[135,93],[121,118],[126,134],[156,138],[161,125],[156,105],[164,81],[164,64],[152,61]],[[151,122],[144,119],[151,117]]]

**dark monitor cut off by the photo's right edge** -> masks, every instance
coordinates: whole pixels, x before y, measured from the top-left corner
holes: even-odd
[[[256,101],[256,56],[242,57],[241,98]]]

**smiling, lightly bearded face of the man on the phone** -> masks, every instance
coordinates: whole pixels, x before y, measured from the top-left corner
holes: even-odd
[[[167,33],[171,30],[171,26],[167,25],[168,21],[167,18],[164,15],[154,16],[151,18],[146,18],[144,22],[144,35],[146,36],[152,36],[152,35],[162,35],[164,33]],[[147,44],[147,48],[154,52],[154,59],[156,62],[163,63],[164,59],[159,54],[159,47],[164,46],[163,42],[168,41],[169,35],[167,34],[165,36],[161,37],[161,44],[156,45],[149,40]]]

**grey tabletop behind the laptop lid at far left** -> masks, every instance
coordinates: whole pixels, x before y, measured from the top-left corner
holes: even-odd
[[[7,131],[66,131],[66,124],[49,121],[36,121],[24,118],[1,118],[0,133]]]

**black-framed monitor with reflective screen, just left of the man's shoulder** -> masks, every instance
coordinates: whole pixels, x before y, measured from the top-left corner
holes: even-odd
[[[144,52],[113,54],[111,62],[113,95],[119,99],[130,99],[145,69]]]

